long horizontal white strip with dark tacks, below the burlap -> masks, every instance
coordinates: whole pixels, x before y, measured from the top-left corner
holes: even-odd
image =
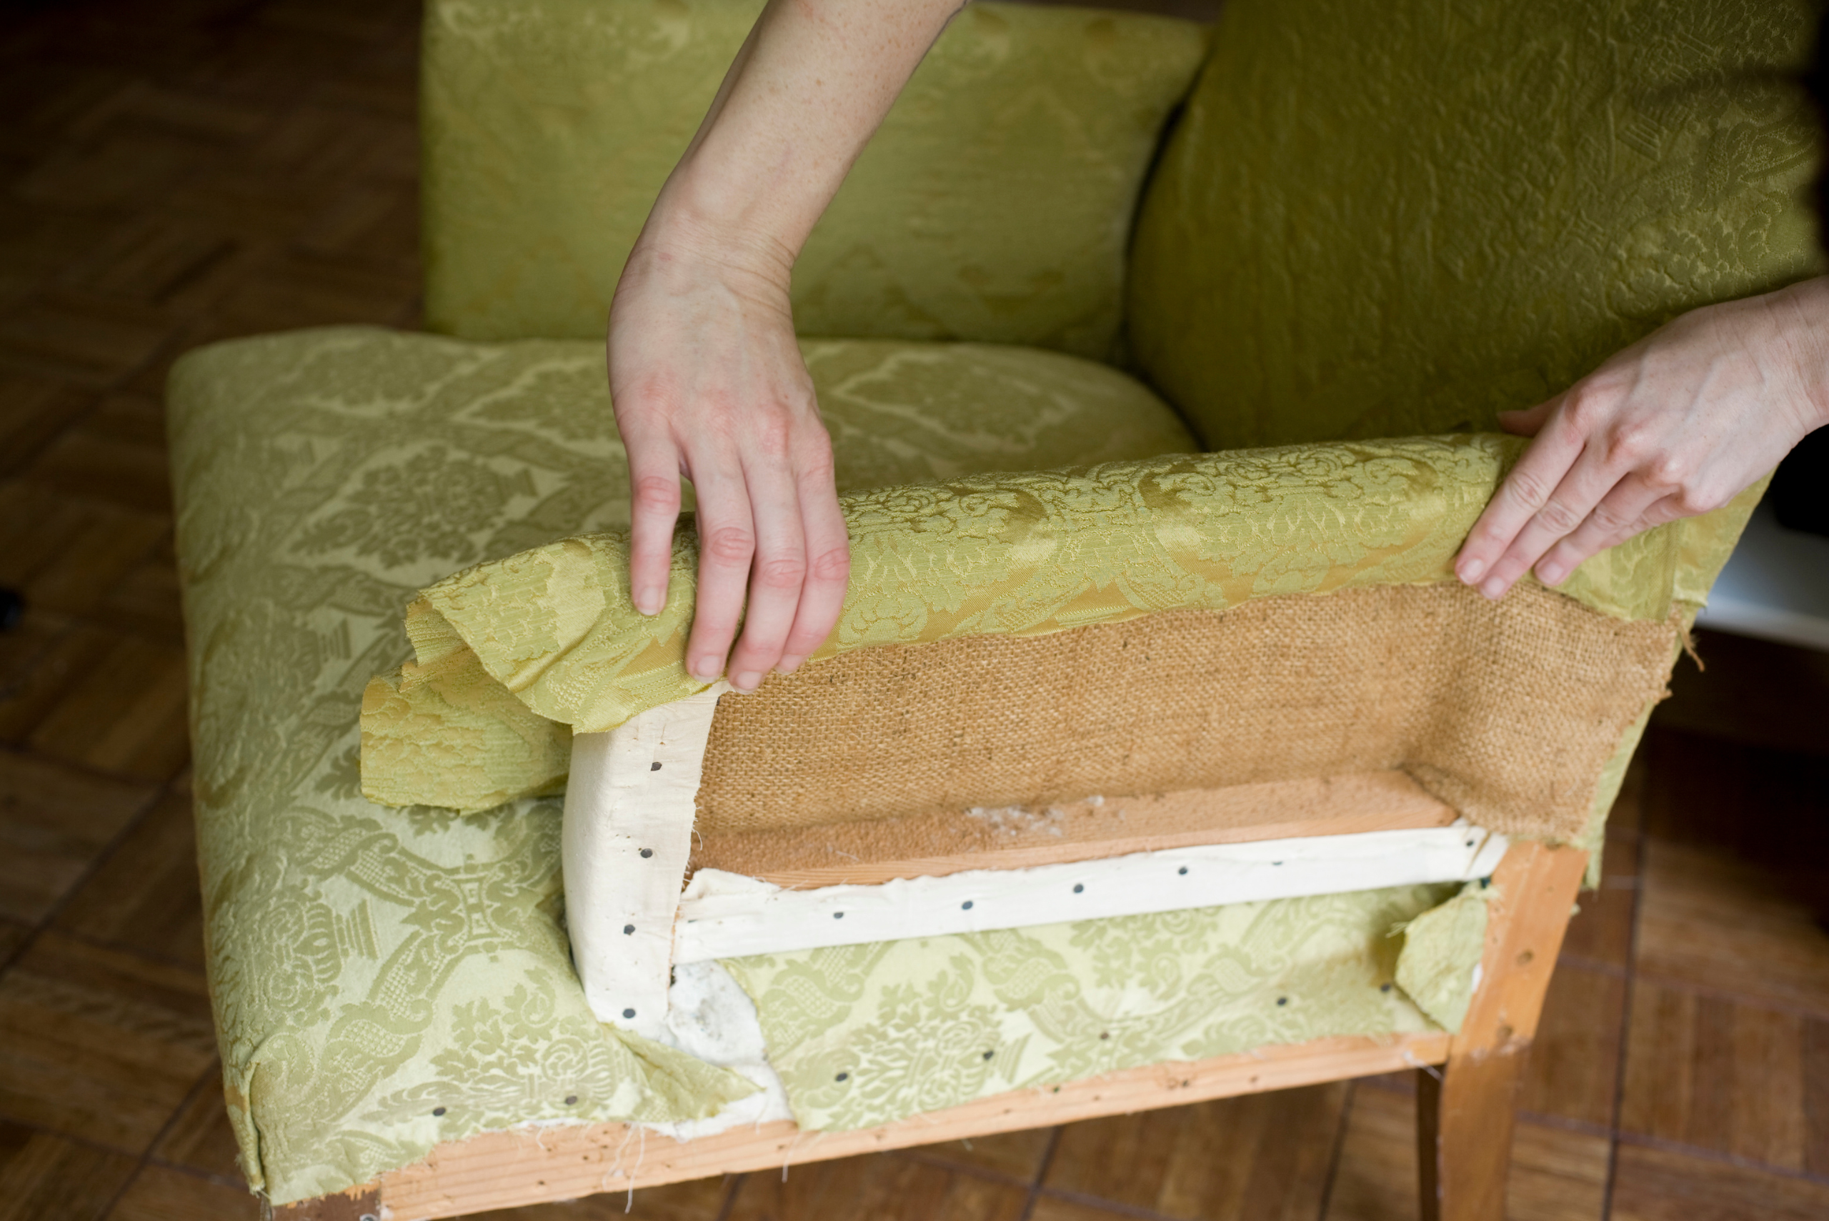
[[[1260,839],[904,877],[880,887],[783,890],[739,874],[699,870],[679,905],[673,961],[1471,881],[1491,874],[1502,855],[1503,835],[1460,821],[1423,830]]]

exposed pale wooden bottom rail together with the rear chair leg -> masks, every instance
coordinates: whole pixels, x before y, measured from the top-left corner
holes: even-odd
[[[1524,1066],[1588,866],[1578,848],[1514,843],[1492,876],[1480,985],[1458,1035],[1322,1038],[1247,1055],[1150,1064],[1048,1091],[1022,1089],[861,1131],[803,1133],[792,1120],[677,1142],[627,1124],[487,1131],[337,1195],[269,1208],[274,1221],[457,1217],[594,1192],[936,1144],[1101,1115],[1412,1067],[1423,1221],[1505,1216],[1505,1173]]]

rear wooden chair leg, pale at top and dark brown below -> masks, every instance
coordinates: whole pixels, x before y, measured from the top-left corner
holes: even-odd
[[[1588,854],[1513,844],[1492,872],[1480,987],[1449,1062],[1417,1071],[1423,1221],[1500,1221],[1524,1066]]]

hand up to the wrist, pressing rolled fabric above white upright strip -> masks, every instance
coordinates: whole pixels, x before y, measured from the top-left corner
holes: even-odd
[[[635,605],[666,605],[686,475],[699,499],[686,669],[711,680],[730,654],[732,685],[752,691],[825,642],[850,550],[832,441],[794,342],[792,258],[713,245],[642,234],[611,307],[609,391],[629,451]]]

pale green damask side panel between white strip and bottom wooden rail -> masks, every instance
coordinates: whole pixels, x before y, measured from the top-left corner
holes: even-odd
[[[1430,919],[1456,890],[1235,903],[724,967],[755,1000],[794,1120],[869,1128],[1163,1060],[1434,1029],[1392,987],[1410,958],[1392,930]],[[1471,954],[1465,940],[1428,949],[1452,950],[1430,954],[1445,983],[1456,972],[1465,983],[1480,961],[1478,941]]]

